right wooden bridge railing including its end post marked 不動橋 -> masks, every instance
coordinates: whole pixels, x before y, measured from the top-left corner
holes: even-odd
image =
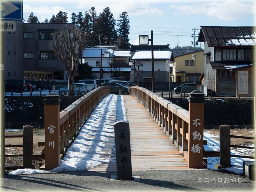
[[[190,93],[189,111],[138,86],[130,87],[164,133],[188,161],[188,167],[203,167],[204,94]]]

